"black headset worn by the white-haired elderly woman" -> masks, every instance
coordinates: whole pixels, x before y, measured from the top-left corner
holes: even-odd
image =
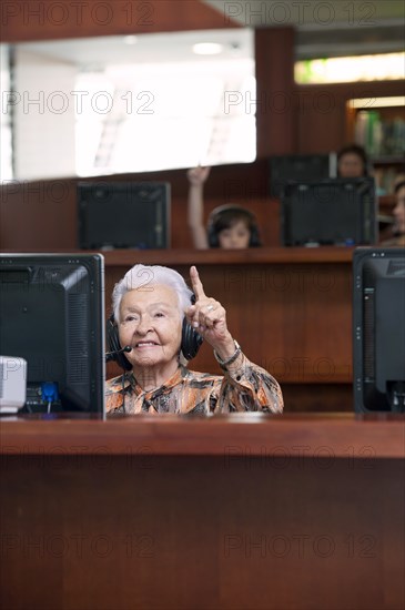
[[[191,296],[191,304],[194,305],[195,295]],[[107,321],[107,342],[111,354],[111,359],[124,370],[132,370],[132,364],[124,355],[124,348],[121,347],[118,326],[114,321],[114,315]],[[199,353],[200,346],[203,342],[202,336],[189,324],[186,317],[183,318],[182,335],[180,349],[186,360],[191,360]]]

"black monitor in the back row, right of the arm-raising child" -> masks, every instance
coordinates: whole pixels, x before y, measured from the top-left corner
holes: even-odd
[[[369,245],[377,238],[374,179],[288,182],[281,197],[284,246]]]

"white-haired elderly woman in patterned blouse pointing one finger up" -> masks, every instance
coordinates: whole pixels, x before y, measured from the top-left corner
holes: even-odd
[[[277,382],[243,354],[224,307],[205,295],[194,266],[190,278],[193,291],[174,270],[135,265],[115,285],[114,332],[126,348],[128,370],[107,382],[108,415],[282,413]],[[196,332],[212,346],[223,376],[184,366],[184,336]]]

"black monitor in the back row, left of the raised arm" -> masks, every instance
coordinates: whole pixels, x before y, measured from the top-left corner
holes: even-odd
[[[79,247],[170,247],[170,185],[79,182]]]

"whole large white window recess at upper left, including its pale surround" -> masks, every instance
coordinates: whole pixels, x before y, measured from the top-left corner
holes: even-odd
[[[246,28],[16,44],[2,159],[17,180],[252,162],[253,47]]]

